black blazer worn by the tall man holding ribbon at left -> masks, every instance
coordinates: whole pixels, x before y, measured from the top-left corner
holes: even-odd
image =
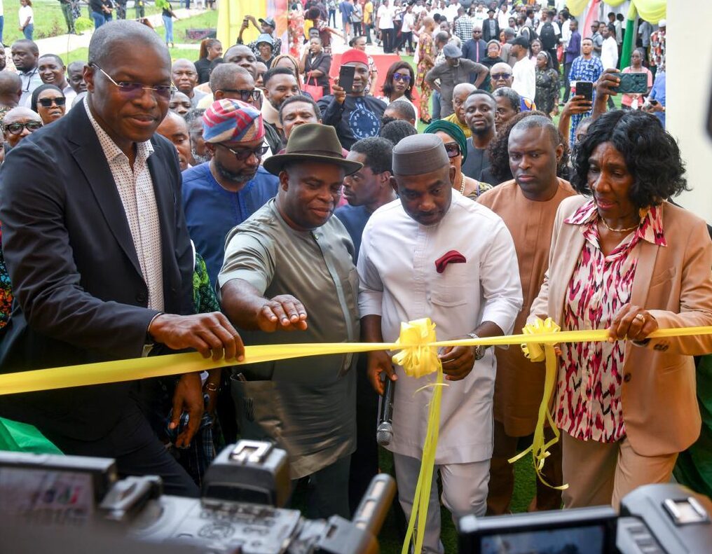
[[[193,254],[173,145],[148,159],[160,219],[164,311],[192,313]],[[141,356],[156,311],[108,162],[83,105],[29,135],[0,171],[3,250],[15,301],[0,371]],[[131,383],[0,396],[0,415],[82,440],[103,437]]]

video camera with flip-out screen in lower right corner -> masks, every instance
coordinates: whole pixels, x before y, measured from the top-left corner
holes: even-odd
[[[712,502],[677,484],[641,486],[609,506],[459,519],[460,554],[712,552]]]

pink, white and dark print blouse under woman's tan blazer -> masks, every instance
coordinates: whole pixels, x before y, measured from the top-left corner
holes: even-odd
[[[637,266],[636,245],[646,240],[666,246],[662,207],[642,215],[640,225],[609,253],[600,247],[593,201],[565,223],[579,225],[585,238],[567,287],[562,329],[606,329],[630,302]],[[556,425],[579,440],[615,442],[625,434],[621,385],[625,341],[562,343],[556,395]]]

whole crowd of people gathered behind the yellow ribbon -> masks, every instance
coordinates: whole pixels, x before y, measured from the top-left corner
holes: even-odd
[[[19,73],[0,70],[3,371],[392,342],[423,317],[439,339],[486,338],[549,316],[609,339],[559,345],[562,442],[543,472],[569,488],[538,483],[530,509],[617,506],[669,480],[700,432],[693,356],[712,339],[650,335],[712,325],[712,241],[672,200],[687,184],[664,129],[664,21],[626,69],[646,73],[649,93],[612,110],[614,14],[581,36],[566,11],[508,1],[375,4],[297,1],[290,14],[313,26],[283,45],[273,18],[248,16],[256,40],[206,39],[196,62],[171,60],[135,21],[100,26],[86,63],[68,68],[16,41]],[[348,90],[329,77],[332,35],[351,44]],[[379,90],[373,41],[417,55],[390,65]],[[582,80],[590,100],[568,85],[560,98],[560,81]],[[273,440],[295,482],[308,480],[308,515],[348,517],[379,471],[390,379],[388,448],[409,516],[432,377],[407,377],[391,356],[11,395],[0,416],[188,496],[221,445]],[[507,461],[534,430],[543,363],[514,347],[439,358],[442,502],[508,513]],[[437,491],[428,553],[443,551]]]

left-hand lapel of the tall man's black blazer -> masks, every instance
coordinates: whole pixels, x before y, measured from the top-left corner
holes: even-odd
[[[80,171],[84,174],[117,243],[131,260],[137,273],[142,275],[116,181],[114,181],[104,151],[83,105],[81,108],[77,107],[76,110],[71,110],[65,117],[72,116],[77,120],[76,128],[78,129],[78,132],[73,134],[75,137],[73,142],[77,144],[77,148],[72,151],[72,155],[77,161]]]

